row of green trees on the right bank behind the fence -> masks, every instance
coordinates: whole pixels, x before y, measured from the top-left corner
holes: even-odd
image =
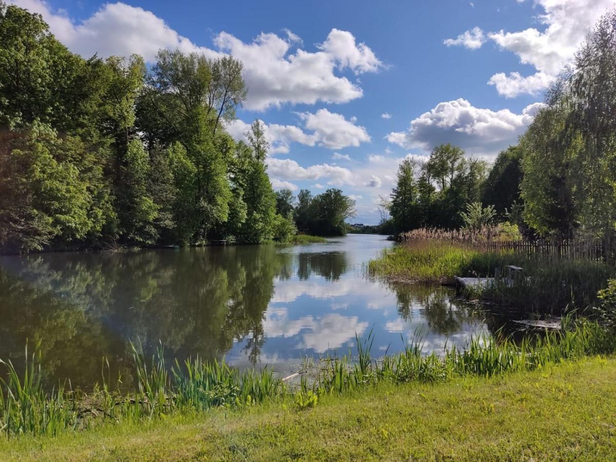
[[[491,168],[455,146],[407,159],[386,206],[395,233],[495,221],[527,237],[614,236],[616,10],[604,15],[546,92],[519,143]]]

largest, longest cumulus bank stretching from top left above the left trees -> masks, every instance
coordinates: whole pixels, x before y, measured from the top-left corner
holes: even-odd
[[[360,74],[383,67],[370,47],[358,44],[352,33],[337,29],[331,30],[315,52],[296,48],[301,38],[290,30],[284,31],[284,37],[261,33],[248,43],[223,31],[214,38],[216,49],[210,49],[181,36],[152,12],[122,2],[103,4],[91,17],[75,22],[43,0],[9,1],[43,15],[55,36],[84,57],[137,53],[152,62],[161,48],[208,57],[231,54],[243,62],[248,86],[245,107],[251,110],[287,103],[349,102],[362,97],[363,91],[336,70]]]

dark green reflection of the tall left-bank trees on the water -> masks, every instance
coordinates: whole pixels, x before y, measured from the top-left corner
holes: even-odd
[[[26,339],[43,339],[44,369],[55,383],[111,376],[130,381],[129,339],[153,354],[220,358],[249,337],[258,360],[274,278],[292,254],[273,246],[43,254],[0,261],[0,358],[23,363]]]

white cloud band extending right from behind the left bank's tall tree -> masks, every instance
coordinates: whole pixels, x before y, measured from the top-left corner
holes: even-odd
[[[357,118],[346,120],[343,115],[320,109],[316,113],[298,113],[304,124],[304,132],[294,125],[266,124],[263,121],[265,139],[270,145],[270,153],[288,153],[292,142],[306,146],[322,146],[328,149],[342,149],[349,146],[359,146],[370,141],[365,128],[355,124]],[[236,140],[246,141],[246,132],[250,124],[242,120],[233,120],[225,124],[227,132]],[[348,155],[334,154],[334,159],[351,160]]]

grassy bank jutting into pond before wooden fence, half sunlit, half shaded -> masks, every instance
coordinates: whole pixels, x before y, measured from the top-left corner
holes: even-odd
[[[482,251],[472,245],[444,241],[414,241],[387,249],[370,261],[371,274],[399,282],[453,282],[454,276],[494,277],[506,265],[524,268],[513,285],[501,280],[489,290],[474,292],[504,306],[528,312],[560,314],[584,310],[597,301],[597,293],[614,277],[615,269],[596,261],[539,259],[513,251]]]

